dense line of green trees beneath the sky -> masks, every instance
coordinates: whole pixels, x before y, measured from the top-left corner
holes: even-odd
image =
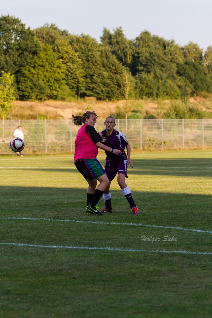
[[[148,31],[127,39],[103,29],[100,43],[55,24],[31,30],[0,17],[0,67],[13,76],[19,100],[152,98],[188,100],[212,93],[212,46],[180,47]],[[2,73],[0,74],[2,76]]]

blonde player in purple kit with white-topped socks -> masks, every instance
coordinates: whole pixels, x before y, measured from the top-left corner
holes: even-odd
[[[106,129],[99,133],[102,137],[105,137],[104,144],[108,147],[119,149],[120,152],[117,157],[113,153],[105,150],[105,153],[107,155],[105,163],[105,172],[109,179],[109,184],[107,185],[103,194],[105,208],[101,211],[101,213],[112,212],[110,184],[118,172],[117,181],[121,188],[121,191],[123,195],[126,197],[127,201],[129,202],[133,214],[138,215],[138,208],[133,201],[133,197],[128,185],[125,183],[125,178],[128,178],[127,163],[131,168],[133,168],[133,162],[130,159],[130,145],[127,142],[125,135],[122,134],[120,131],[114,129],[116,124],[115,118],[113,116],[108,116],[104,124]],[[127,156],[124,151],[125,147],[127,149]]]

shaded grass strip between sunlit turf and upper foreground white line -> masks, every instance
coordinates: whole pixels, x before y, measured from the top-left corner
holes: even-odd
[[[51,187],[0,187],[0,216],[89,219],[85,214],[86,189]],[[130,206],[120,190],[112,190],[113,214],[110,221],[144,222],[147,224],[211,227],[210,195],[133,191],[140,210],[138,218],[131,215]],[[104,207],[103,198],[98,203]]]

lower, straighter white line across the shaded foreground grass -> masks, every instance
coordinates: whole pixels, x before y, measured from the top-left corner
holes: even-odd
[[[177,253],[177,254],[194,254],[194,255],[212,255],[212,252],[190,252],[190,251],[167,251],[167,250],[144,250],[144,249],[121,249],[114,247],[88,247],[88,246],[61,246],[61,245],[37,245],[26,243],[4,243],[0,245],[13,245],[21,247],[45,247],[45,248],[64,248],[64,249],[77,249],[77,250],[100,250],[100,251],[118,251],[118,252],[147,252],[147,253]]]

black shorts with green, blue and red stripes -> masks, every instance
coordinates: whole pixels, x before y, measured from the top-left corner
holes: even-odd
[[[100,162],[95,159],[79,159],[74,162],[77,170],[90,181],[105,174]]]

